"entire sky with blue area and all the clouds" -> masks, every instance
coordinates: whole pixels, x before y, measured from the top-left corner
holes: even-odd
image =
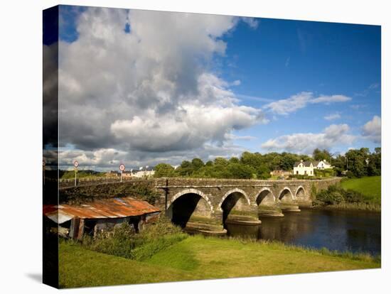
[[[373,149],[380,35],[380,26],[61,6],[60,101],[96,121],[63,116],[60,140],[100,168]]]

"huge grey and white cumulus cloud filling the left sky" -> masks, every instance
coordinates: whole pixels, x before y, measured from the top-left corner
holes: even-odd
[[[261,109],[239,104],[230,89],[239,80],[230,84],[210,70],[215,55],[225,54],[222,37],[239,21],[258,24],[88,8],[77,18],[77,40],[59,45],[60,145],[101,165],[110,156],[100,160],[91,152],[105,150],[116,160],[124,154],[112,151],[121,151],[137,163],[171,151],[202,153],[208,144],[231,150],[224,142],[232,131],[267,123]]]

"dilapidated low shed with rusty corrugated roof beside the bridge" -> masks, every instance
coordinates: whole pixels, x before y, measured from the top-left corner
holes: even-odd
[[[95,200],[82,205],[43,205],[45,227],[60,236],[82,239],[85,234],[96,236],[123,223],[139,232],[159,219],[161,210],[132,197]]]

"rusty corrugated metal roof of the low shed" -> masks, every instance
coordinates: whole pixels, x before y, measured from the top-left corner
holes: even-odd
[[[95,200],[84,205],[43,205],[43,214],[61,224],[73,217],[80,219],[106,219],[134,217],[146,213],[160,212],[160,209],[143,200],[132,197]]]

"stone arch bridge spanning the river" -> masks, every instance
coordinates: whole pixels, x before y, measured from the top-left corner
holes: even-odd
[[[227,223],[260,224],[259,215],[282,217],[312,205],[311,193],[339,183],[326,180],[157,178],[157,206],[190,231],[224,234]]]

